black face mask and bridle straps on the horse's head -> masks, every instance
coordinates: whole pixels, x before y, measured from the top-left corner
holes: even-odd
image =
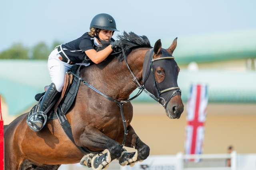
[[[171,98],[181,95],[181,90],[177,84],[178,69],[176,68],[178,66],[174,57],[166,49],[161,49],[162,55],[156,59],[153,58],[153,52],[154,50],[150,49],[145,54],[142,71],[143,85],[152,94],[150,97],[166,108]],[[166,72],[164,80],[160,83],[156,82],[154,76],[154,70],[158,66],[163,67]]]

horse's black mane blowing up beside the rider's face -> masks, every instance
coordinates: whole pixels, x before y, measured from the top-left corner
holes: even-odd
[[[145,35],[140,36],[134,32],[126,33],[126,31],[124,31],[122,33],[122,35],[118,34],[117,38],[124,45],[124,52],[125,52],[126,56],[128,56],[128,54],[130,54],[132,52],[132,50],[134,50],[134,49],[151,48],[148,37],[146,37]],[[96,51],[101,51],[101,50],[105,49],[106,47],[108,47],[110,45],[110,42],[100,40],[101,47],[96,48]],[[118,53],[118,52],[120,52],[120,53]],[[114,53],[118,53],[118,54],[114,54]],[[123,59],[124,59],[122,49],[120,49],[120,48],[113,50],[113,52],[110,54],[110,56],[118,58],[118,61],[123,61]],[[86,63],[86,60],[83,61],[83,63]]]

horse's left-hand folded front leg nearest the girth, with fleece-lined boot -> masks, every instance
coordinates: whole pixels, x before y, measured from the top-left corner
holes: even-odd
[[[79,132],[78,132],[79,133]],[[79,147],[88,147],[89,149],[108,149],[108,152],[102,155],[87,154],[80,164],[92,167],[93,170],[108,168],[108,164],[121,156],[121,145],[104,135],[97,128],[90,125],[86,126],[80,134],[74,135],[75,143]]]

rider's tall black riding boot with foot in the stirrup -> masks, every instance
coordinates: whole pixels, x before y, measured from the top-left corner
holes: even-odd
[[[28,121],[28,125],[30,129],[33,131],[40,131],[43,128],[44,117],[42,116],[43,112],[50,106],[50,104],[59,96],[60,92],[56,90],[55,84],[52,83],[39,106],[39,110],[36,112],[34,116],[32,116]]]

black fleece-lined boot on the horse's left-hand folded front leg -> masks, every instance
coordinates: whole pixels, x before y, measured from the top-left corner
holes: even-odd
[[[107,169],[108,164],[111,162],[110,152],[104,153],[100,156],[94,156],[92,158],[92,169],[93,170],[101,170]]]

